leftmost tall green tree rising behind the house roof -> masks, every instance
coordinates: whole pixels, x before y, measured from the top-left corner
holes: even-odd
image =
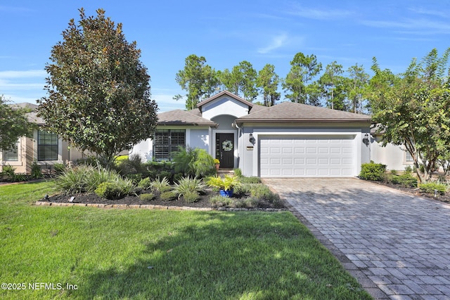
[[[206,64],[206,58],[195,54],[185,59],[184,69],[176,73],[175,80],[181,89],[187,91],[188,110],[193,110],[203,98],[211,96],[219,84],[216,71]],[[181,98],[183,98],[181,95],[174,96],[176,100]]]

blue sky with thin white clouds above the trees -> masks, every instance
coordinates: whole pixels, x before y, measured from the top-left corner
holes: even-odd
[[[13,103],[46,95],[51,47],[71,18],[79,20],[81,7],[86,15],[103,8],[122,22],[127,41],[142,51],[160,112],[184,109],[172,97],[184,94],[175,74],[190,54],[205,56],[216,70],[243,60],[256,70],[270,63],[285,77],[297,52],[316,55],[323,67],[336,60],[369,73],[375,56],[380,67],[399,73],[412,58],[450,46],[446,0],[2,1],[0,94]]]

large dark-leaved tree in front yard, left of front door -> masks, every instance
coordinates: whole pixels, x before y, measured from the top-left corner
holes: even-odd
[[[141,51],[126,41],[122,24],[105,18],[103,9],[95,18],[83,8],[79,13],[51,50],[48,96],[38,101],[38,112],[49,131],[109,166],[122,150],[153,137],[158,106],[150,100]]]

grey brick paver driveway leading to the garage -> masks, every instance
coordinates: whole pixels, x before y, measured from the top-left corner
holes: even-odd
[[[356,178],[264,179],[377,299],[450,299],[450,205]]]

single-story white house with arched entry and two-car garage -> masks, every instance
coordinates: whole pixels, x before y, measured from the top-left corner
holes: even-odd
[[[203,148],[222,169],[260,177],[353,177],[370,161],[368,115],[290,102],[264,107],[228,91],[197,107],[160,113],[154,139],[132,153],[160,161],[179,146]]]

